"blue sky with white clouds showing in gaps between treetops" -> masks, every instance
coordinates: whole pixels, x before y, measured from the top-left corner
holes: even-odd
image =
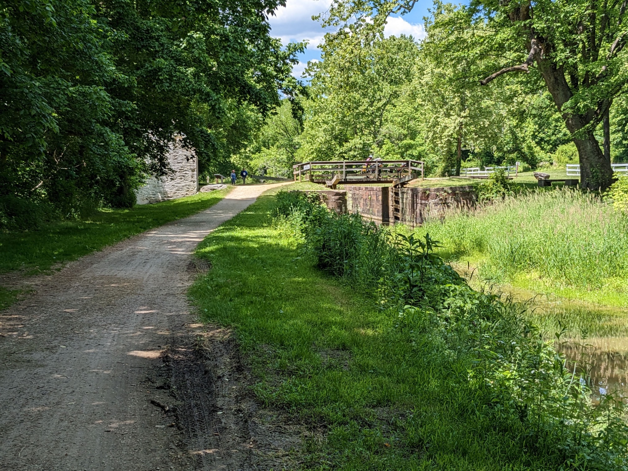
[[[432,0],[418,0],[413,10],[402,17],[390,18],[384,33],[386,35],[413,35],[414,38],[425,37],[423,28],[423,16],[432,6]],[[305,54],[301,55],[299,65],[295,66],[294,75],[300,77],[308,60],[320,58],[320,50],[317,46],[323,39],[323,28],[317,21],[312,21],[311,16],[327,11],[330,0],[287,0],[285,7],[279,7],[276,16],[271,16],[273,35],[281,38],[284,44],[290,41],[309,40]]]

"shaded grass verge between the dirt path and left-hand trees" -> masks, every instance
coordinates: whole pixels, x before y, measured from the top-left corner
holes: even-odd
[[[85,220],[0,234],[0,273],[22,270],[28,275],[48,271],[145,230],[208,208],[227,192],[198,193],[130,209],[100,210]]]

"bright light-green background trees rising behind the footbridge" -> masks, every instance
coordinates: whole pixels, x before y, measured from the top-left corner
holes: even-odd
[[[571,151],[556,154],[570,134],[539,74],[480,85],[502,58],[487,53],[493,31],[470,9],[435,2],[427,38],[415,41],[386,38],[376,14],[344,21],[342,8],[354,11],[333,6],[323,24],[336,30],[306,70],[303,133],[291,137],[296,160],[414,158],[445,175],[461,165],[574,161]],[[288,165],[284,153],[263,147],[266,162],[277,156],[274,168]]]

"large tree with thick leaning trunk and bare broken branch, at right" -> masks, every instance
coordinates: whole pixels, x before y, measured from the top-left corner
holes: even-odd
[[[504,67],[480,83],[489,84],[505,73],[529,72],[536,64],[578,149],[583,188],[606,189],[612,183],[610,148],[604,152],[594,132],[604,122],[609,142],[610,106],[628,82],[622,52],[625,8],[625,2],[613,0],[488,1],[471,6],[499,31],[495,43],[511,53]],[[526,52],[521,63],[506,64],[522,50]]]

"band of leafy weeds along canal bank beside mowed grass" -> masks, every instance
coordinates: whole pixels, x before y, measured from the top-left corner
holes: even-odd
[[[502,191],[507,185],[503,172],[490,181]],[[317,267],[352,286],[376,288],[377,305],[398,313],[394,328],[411,345],[409,357],[432,355],[431,367],[448,371],[479,420],[521,428],[529,453],[553,457],[556,468],[572,461],[605,468],[610,449],[617,469],[628,463],[623,449],[613,448],[628,436],[616,404],[591,406],[590,390],[526,320],[525,306],[470,288],[435,253],[441,244],[428,233],[393,235],[357,214],[318,208],[302,227]],[[369,243],[378,248],[365,256]]]

